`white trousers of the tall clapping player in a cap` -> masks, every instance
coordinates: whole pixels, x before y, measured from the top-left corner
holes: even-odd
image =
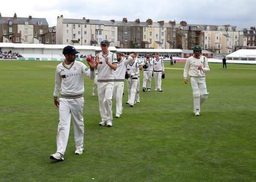
[[[102,121],[113,120],[113,86],[114,82],[98,82],[99,113]]]

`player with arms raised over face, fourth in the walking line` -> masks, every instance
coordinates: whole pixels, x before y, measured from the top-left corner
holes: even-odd
[[[131,54],[134,54],[134,58],[131,64],[128,64],[126,66],[126,71],[128,73],[128,104],[130,105],[130,107],[133,107],[135,103],[135,96],[137,93],[138,75],[140,74],[140,68],[139,64],[135,61],[137,54],[135,52],[131,52]]]

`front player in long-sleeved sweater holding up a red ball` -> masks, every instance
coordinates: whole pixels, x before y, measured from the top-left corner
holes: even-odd
[[[71,116],[74,127],[74,137],[76,143],[75,154],[82,154],[84,150],[84,78],[95,77],[95,63],[93,60],[87,61],[90,69],[83,63],[75,61],[76,54],[79,53],[73,46],[66,46],[63,49],[65,60],[58,64],[55,72],[55,89],[53,93],[54,104],[59,108],[59,124],[56,138],[57,152],[50,156],[50,159],[63,161],[70,132]],[[61,98],[58,101],[58,95]]]

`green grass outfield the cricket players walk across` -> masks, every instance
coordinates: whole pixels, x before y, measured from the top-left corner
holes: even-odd
[[[153,81],[133,108],[125,104],[125,89],[123,114],[113,127],[98,125],[98,98],[85,78],[84,153],[74,154],[71,125],[65,160],[54,162],[59,63],[0,61],[1,182],[256,181],[256,65],[227,64],[224,70],[209,64],[209,98],[199,117],[183,70],[166,69],[163,92],[153,91]]]

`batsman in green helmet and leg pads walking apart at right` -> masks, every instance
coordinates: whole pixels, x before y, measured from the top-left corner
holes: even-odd
[[[208,97],[208,92],[205,82],[205,72],[209,72],[207,58],[201,55],[201,47],[195,46],[194,55],[190,56],[185,64],[183,77],[184,83],[188,83],[188,75],[193,92],[193,104],[195,116],[200,116],[200,107]]]

